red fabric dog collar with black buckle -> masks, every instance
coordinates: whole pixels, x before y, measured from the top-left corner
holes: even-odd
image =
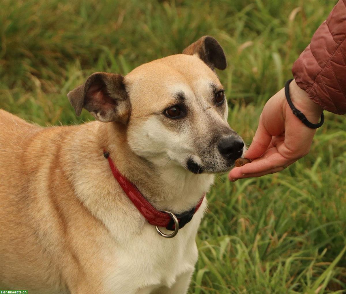
[[[175,224],[172,217],[163,211],[159,211],[155,209],[148,202],[148,200],[146,200],[143,197],[143,195],[138,191],[137,187],[120,174],[118,169],[113,164],[113,161],[109,156],[109,152],[106,152],[106,150],[103,150],[103,155],[104,157],[108,159],[108,163],[112,170],[114,178],[116,178],[122,190],[124,190],[128,198],[137,207],[139,212],[148,220],[148,223],[158,227],[165,227],[167,230],[170,230],[170,231],[175,231]],[[182,214],[175,214],[179,222],[179,229],[182,228],[188,222],[190,222],[194,213],[201,206],[204,196],[205,194],[199,200],[196,207],[192,208],[189,211],[185,211]]]

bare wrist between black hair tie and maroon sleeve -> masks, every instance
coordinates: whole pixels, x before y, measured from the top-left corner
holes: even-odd
[[[301,89],[295,80],[290,84],[290,96],[293,105],[300,110],[312,123],[317,123],[323,111],[322,107],[313,102],[307,92]]]

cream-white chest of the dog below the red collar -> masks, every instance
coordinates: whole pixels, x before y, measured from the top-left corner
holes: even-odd
[[[110,250],[102,279],[106,292],[149,294],[160,287],[171,288],[180,275],[192,273],[198,258],[198,226],[190,225],[166,239],[148,224],[143,234]]]

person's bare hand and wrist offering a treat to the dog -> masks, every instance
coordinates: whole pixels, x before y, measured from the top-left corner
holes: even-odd
[[[322,108],[310,100],[295,80],[290,84],[290,94],[294,106],[310,122],[317,123]],[[244,154],[245,158],[253,161],[233,168],[228,174],[229,180],[282,171],[309,153],[315,132],[316,129],[305,126],[292,113],[285,98],[284,88],[281,89],[265,104],[251,146]]]

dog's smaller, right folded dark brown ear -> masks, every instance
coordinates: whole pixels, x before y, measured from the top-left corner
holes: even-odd
[[[212,70],[227,67],[226,56],[222,47],[213,37],[203,36],[198,41],[186,47],[183,54],[197,54]]]

